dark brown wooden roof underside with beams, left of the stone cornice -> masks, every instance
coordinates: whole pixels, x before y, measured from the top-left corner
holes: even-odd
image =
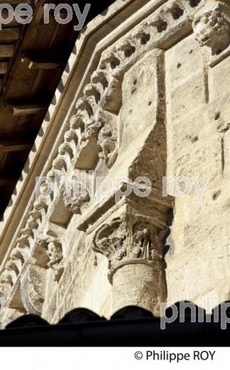
[[[4,0],[0,4],[30,4],[33,20],[21,25],[15,18],[0,31],[0,216],[9,203],[28,153],[62,76],[78,32],[77,18],[65,25],[52,12],[44,24],[45,0]],[[90,1],[52,0],[54,4],[77,3],[83,11]],[[114,0],[92,4],[87,22]],[[8,16],[3,11],[3,16]],[[4,15],[5,13],[5,15]],[[64,15],[65,16],[65,15]]]

